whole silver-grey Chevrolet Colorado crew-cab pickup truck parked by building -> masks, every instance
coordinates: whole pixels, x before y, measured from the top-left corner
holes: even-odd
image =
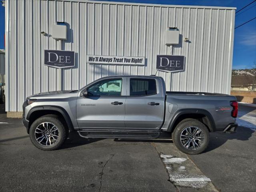
[[[157,76],[109,76],[80,90],[29,96],[23,124],[42,150],[60,148],[70,131],[84,138],[152,139],[169,135],[187,154],[203,152],[209,132],[236,131],[236,97],[166,92]]]

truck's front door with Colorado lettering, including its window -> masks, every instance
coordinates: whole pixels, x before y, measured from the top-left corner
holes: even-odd
[[[78,96],[76,116],[79,128],[125,128],[124,82],[126,78],[100,80],[84,90],[88,96]]]

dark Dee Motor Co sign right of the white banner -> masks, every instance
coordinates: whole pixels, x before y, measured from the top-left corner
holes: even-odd
[[[167,72],[183,71],[185,56],[157,55],[156,69]]]

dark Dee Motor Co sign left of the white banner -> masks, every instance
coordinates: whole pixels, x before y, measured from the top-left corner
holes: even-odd
[[[55,68],[70,68],[75,66],[74,51],[44,50],[44,64]]]

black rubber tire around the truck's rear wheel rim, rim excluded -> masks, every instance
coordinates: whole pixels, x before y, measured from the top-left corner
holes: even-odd
[[[204,134],[204,142],[202,143],[202,145],[200,147],[198,147],[197,149],[194,149],[194,150],[185,148],[180,140],[180,135],[182,134],[182,131],[190,126],[195,126],[195,127],[200,128]],[[176,128],[172,132],[172,140],[173,140],[174,144],[176,145],[176,147],[180,151],[182,151],[186,154],[195,155],[195,154],[202,153],[208,147],[209,140],[210,140],[210,134],[209,134],[208,128],[202,122],[200,122],[196,119],[189,118],[189,119],[182,120],[176,126]]]

